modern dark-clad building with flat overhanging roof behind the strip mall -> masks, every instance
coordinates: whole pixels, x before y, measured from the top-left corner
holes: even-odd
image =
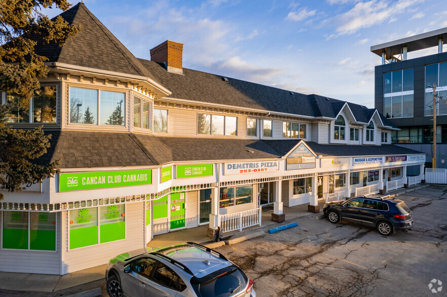
[[[432,167],[433,89],[441,95],[436,103],[437,168],[447,168],[447,28],[371,46],[382,57],[375,69],[375,107],[400,128],[391,133],[392,143],[427,153]],[[407,59],[408,53],[438,47],[438,53]]]

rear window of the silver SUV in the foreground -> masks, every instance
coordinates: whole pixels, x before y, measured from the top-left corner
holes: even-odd
[[[197,296],[227,297],[245,288],[247,277],[239,268],[231,266],[222,270],[218,271],[220,274],[217,274],[212,279],[208,278],[204,282],[191,281]]]

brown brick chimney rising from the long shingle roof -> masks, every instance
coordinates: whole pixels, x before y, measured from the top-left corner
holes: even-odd
[[[165,63],[169,72],[183,74],[183,43],[166,40],[150,50],[150,60]]]

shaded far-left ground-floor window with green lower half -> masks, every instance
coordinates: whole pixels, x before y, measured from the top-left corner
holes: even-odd
[[[2,248],[56,251],[56,214],[4,211]]]

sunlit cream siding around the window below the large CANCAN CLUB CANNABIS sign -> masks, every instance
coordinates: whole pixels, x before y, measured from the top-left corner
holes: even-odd
[[[67,212],[63,212],[63,232],[68,231]],[[107,264],[113,257],[144,248],[145,228],[143,202],[126,204],[126,239],[95,244],[68,250],[68,240],[63,243],[64,273]],[[68,238],[68,234],[67,234]]]

